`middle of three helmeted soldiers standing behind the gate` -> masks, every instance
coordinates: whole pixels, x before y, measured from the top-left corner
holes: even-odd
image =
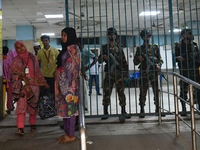
[[[158,72],[163,64],[162,58],[160,56],[160,51],[158,45],[151,45],[149,40],[151,38],[151,33],[146,29],[140,32],[140,37],[143,39],[144,43],[140,47],[137,47],[136,53],[134,55],[133,62],[135,65],[139,65],[140,69],[140,95],[139,95],[139,105],[140,105],[140,118],[145,117],[144,106],[146,102],[146,94],[149,87],[149,81],[154,93],[154,104],[156,107],[156,113],[158,112]],[[152,64],[148,61],[151,61]]]

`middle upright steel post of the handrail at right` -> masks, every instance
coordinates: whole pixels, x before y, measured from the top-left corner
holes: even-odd
[[[180,124],[178,117],[178,90],[177,90],[177,77],[173,76],[173,88],[174,88],[174,107],[175,107],[175,128],[176,135],[180,135]]]

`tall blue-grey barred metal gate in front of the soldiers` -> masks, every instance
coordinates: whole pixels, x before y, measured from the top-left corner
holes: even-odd
[[[140,36],[141,31],[143,29],[148,30],[151,34],[149,43],[151,45],[156,44],[159,48],[159,53],[163,60],[163,64],[160,66],[161,71],[178,72],[174,43],[179,43],[183,39],[183,36],[180,35],[182,29],[191,29],[194,36],[192,41],[199,47],[199,2],[199,0],[72,0],[68,1],[66,7],[68,13],[66,21],[69,26],[73,26],[76,29],[78,37],[83,39],[84,47],[88,51],[93,51],[96,57],[102,53],[102,45],[109,41],[107,29],[112,27],[117,30],[115,42],[119,43],[119,49],[124,52],[128,64],[129,80],[120,82],[122,83],[120,86],[124,87],[126,112],[131,115],[138,115],[140,113],[139,86],[143,83],[139,82],[142,74],[138,65],[133,63],[133,59],[137,47],[143,45],[144,42]],[[189,56],[186,55],[185,57]],[[149,62],[146,62],[148,65]],[[123,66],[123,61],[117,62],[117,60],[113,60],[110,57],[108,63],[114,64],[115,71],[118,64]],[[105,99],[105,94],[103,93],[105,82],[103,81],[106,73],[104,71],[105,63],[99,65],[100,67],[97,66],[96,71],[99,72],[99,77],[97,78],[99,78],[100,93],[102,95],[98,95],[94,83],[92,91],[89,91],[89,84],[87,84],[87,89],[83,91],[87,95],[85,99],[86,109],[88,109],[86,111],[87,117],[100,117],[103,114],[102,100]],[[126,71],[121,70],[121,75],[124,72],[126,73]],[[86,73],[89,78],[90,70]],[[166,91],[166,93],[160,95],[162,112],[174,111],[173,96],[169,94],[173,93],[172,78],[160,75],[154,76],[155,78],[161,81],[159,89]],[[88,83],[88,81],[85,82]],[[145,113],[155,115],[154,98],[156,96],[153,94],[150,82],[148,85]],[[179,107],[181,111],[181,106]],[[108,112],[110,116],[121,114],[116,84],[112,89]]]

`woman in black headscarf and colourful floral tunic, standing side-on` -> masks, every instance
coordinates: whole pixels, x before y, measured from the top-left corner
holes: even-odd
[[[55,101],[57,114],[63,118],[65,134],[58,143],[75,141],[75,123],[80,97],[80,50],[76,45],[74,28],[61,31],[62,51],[57,58]]]

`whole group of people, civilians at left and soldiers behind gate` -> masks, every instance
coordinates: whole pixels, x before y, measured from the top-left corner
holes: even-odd
[[[119,121],[131,118],[126,111],[125,84],[129,79],[129,67],[123,52],[123,47],[117,42],[117,30],[113,27],[107,30],[108,42],[101,46],[100,55],[97,56],[84,47],[82,38],[77,38],[76,30],[71,27],[61,31],[62,50],[50,46],[50,37],[41,36],[41,42],[33,45],[34,53],[28,51],[22,41],[16,41],[14,50],[4,47],[3,71],[7,81],[7,113],[10,114],[13,102],[16,102],[15,114],[17,115],[17,132],[23,136],[25,127],[25,116],[29,114],[30,131],[35,132],[37,104],[40,96],[40,87],[49,88],[54,99],[55,111],[63,118],[64,135],[58,137],[58,143],[73,142],[75,140],[75,126],[78,118],[78,103],[80,92],[84,92],[83,108],[88,110],[88,77],[89,71],[89,96],[92,94],[93,79],[96,84],[97,95],[102,95],[99,88],[99,65],[105,64],[103,80],[103,115],[102,120],[109,118],[109,105],[111,94],[115,84],[118,94],[121,114]],[[158,113],[158,75],[163,64],[159,45],[150,44],[151,33],[143,29],[140,32],[143,44],[136,48],[133,63],[140,71],[140,118],[145,117],[146,94],[151,83],[155,113]],[[175,57],[180,74],[200,83],[200,59],[197,43],[194,41],[191,29],[181,31],[181,40],[175,43]],[[83,91],[80,90],[80,81],[84,79]],[[180,81],[180,98],[182,105],[182,116],[186,116],[185,103],[188,100],[188,84]],[[196,103],[200,105],[200,92],[194,90]]]

